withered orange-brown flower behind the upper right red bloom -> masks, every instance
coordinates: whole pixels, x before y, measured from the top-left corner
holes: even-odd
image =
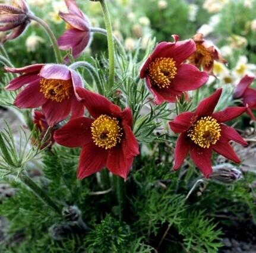
[[[227,61],[220,55],[219,50],[213,43],[204,40],[202,33],[197,33],[193,37],[197,50],[188,58],[190,64],[198,68],[203,68],[208,74],[213,74],[214,61],[226,63]]]

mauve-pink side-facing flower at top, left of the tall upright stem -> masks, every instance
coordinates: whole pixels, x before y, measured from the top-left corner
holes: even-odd
[[[67,30],[58,39],[59,49],[72,50],[72,56],[77,58],[90,44],[90,21],[77,7],[74,0],[65,0],[68,13],[59,12],[61,18],[67,23]]]

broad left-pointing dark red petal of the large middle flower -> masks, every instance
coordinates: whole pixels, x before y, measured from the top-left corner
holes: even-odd
[[[72,119],[54,133],[56,143],[65,147],[80,147],[91,143],[91,123],[93,119],[80,117]]]

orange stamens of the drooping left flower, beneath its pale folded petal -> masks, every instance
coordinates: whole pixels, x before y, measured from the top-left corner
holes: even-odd
[[[42,92],[46,99],[61,102],[68,99],[72,90],[71,80],[56,80],[45,79],[40,81],[40,92]]]

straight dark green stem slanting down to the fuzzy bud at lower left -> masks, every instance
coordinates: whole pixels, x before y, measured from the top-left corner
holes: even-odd
[[[52,207],[57,213],[61,214],[62,208],[55,204],[55,202],[40,188],[29,176],[24,173],[20,174],[20,180],[27,185],[36,194],[40,200]]]

